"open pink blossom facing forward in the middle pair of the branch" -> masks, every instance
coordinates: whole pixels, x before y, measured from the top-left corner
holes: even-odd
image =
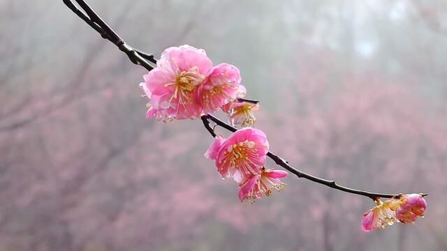
[[[268,140],[263,131],[242,128],[228,139],[217,136],[205,157],[215,160],[223,178],[234,178],[240,182],[244,176],[261,172],[268,149]]]

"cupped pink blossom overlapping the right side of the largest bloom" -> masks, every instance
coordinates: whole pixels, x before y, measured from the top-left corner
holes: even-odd
[[[233,102],[240,93],[239,69],[228,63],[214,66],[196,92],[196,100],[203,112],[212,113]]]

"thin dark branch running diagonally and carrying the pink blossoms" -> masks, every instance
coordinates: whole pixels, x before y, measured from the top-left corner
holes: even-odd
[[[154,59],[154,56],[152,54],[145,54],[143,52],[139,52],[138,50],[133,49],[133,47],[127,45],[122,38],[118,36],[118,34],[113,31],[108,24],[106,24],[101,17],[99,17],[94,10],[91,9],[91,7],[83,0],[75,0],[79,6],[85,11],[87,15],[82,13],[81,10],[79,10],[71,0],[63,0],[66,6],[73,10],[73,12],[78,15],[82,20],[87,22],[91,28],[93,28],[95,31],[101,34],[101,37],[110,40],[110,42],[117,45],[119,50],[122,50],[124,53],[129,56],[129,59],[140,66],[145,67],[147,70],[152,70],[154,67],[149,64],[148,61],[152,63],[156,63],[156,59]],[[257,100],[247,100],[244,98],[239,98],[239,101],[242,102],[250,102],[253,104],[257,104]],[[210,121],[213,121],[217,124],[217,126],[221,126],[222,128],[225,128],[226,130],[229,130],[230,132],[237,131],[237,128],[230,126],[230,124],[225,123],[218,119],[217,117],[213,116],[212,114],[206,114],[201,116],[203,126],[205,126],[205,129],[210,132],[212,137],[216,137],[216,132],[214,132],[214,129],[210,126]],[[306,178],[309,181],[313,181],[315,183],[320,183],[322,185],[327,185],[330,188],[334,188],[337,190],[341,190],[344,192],[349,192],[355,195],[362,195],[365,197],[369,197],[370,199],[376,200],[379,198],[399,198],[402,194],[382,194],[382,193],[376,193],[376,192],[367,192],[362,190],[356,190],[353,188],[348,188],[343,185],[337,184],[335,181],[326,180],[324,178],[318,178],[316,176],[313,176],[311,174],[307,174],[305,172],[302,172],[298,169],[295,169],[295,167],[292,167],[288,164],[284,158],[281,158],[279,155],[276,155],[272,152],[267,153],[268,157],[271,158],[277,165],[283,167],[284,169],[288,170],[288,172],[291,172],[298,176],[299,178]],[[420,195],[426,196],[426,193],[421,193]]]

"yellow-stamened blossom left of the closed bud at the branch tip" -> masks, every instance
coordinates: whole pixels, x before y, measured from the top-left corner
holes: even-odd
[[[393,225],[396,222],[396,209],[398,199],[388,199],[385,202],[377,201],[378,205],[363,214],[363,231],[372,231]]]

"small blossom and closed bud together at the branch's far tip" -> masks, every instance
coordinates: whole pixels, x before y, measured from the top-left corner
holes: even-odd
[[[376,206],[363,214],[363,231],[382,229],[395,222],[412,223],[423,217],[427,202],[422,195],[402,195],[398,199],[376,200]]]

